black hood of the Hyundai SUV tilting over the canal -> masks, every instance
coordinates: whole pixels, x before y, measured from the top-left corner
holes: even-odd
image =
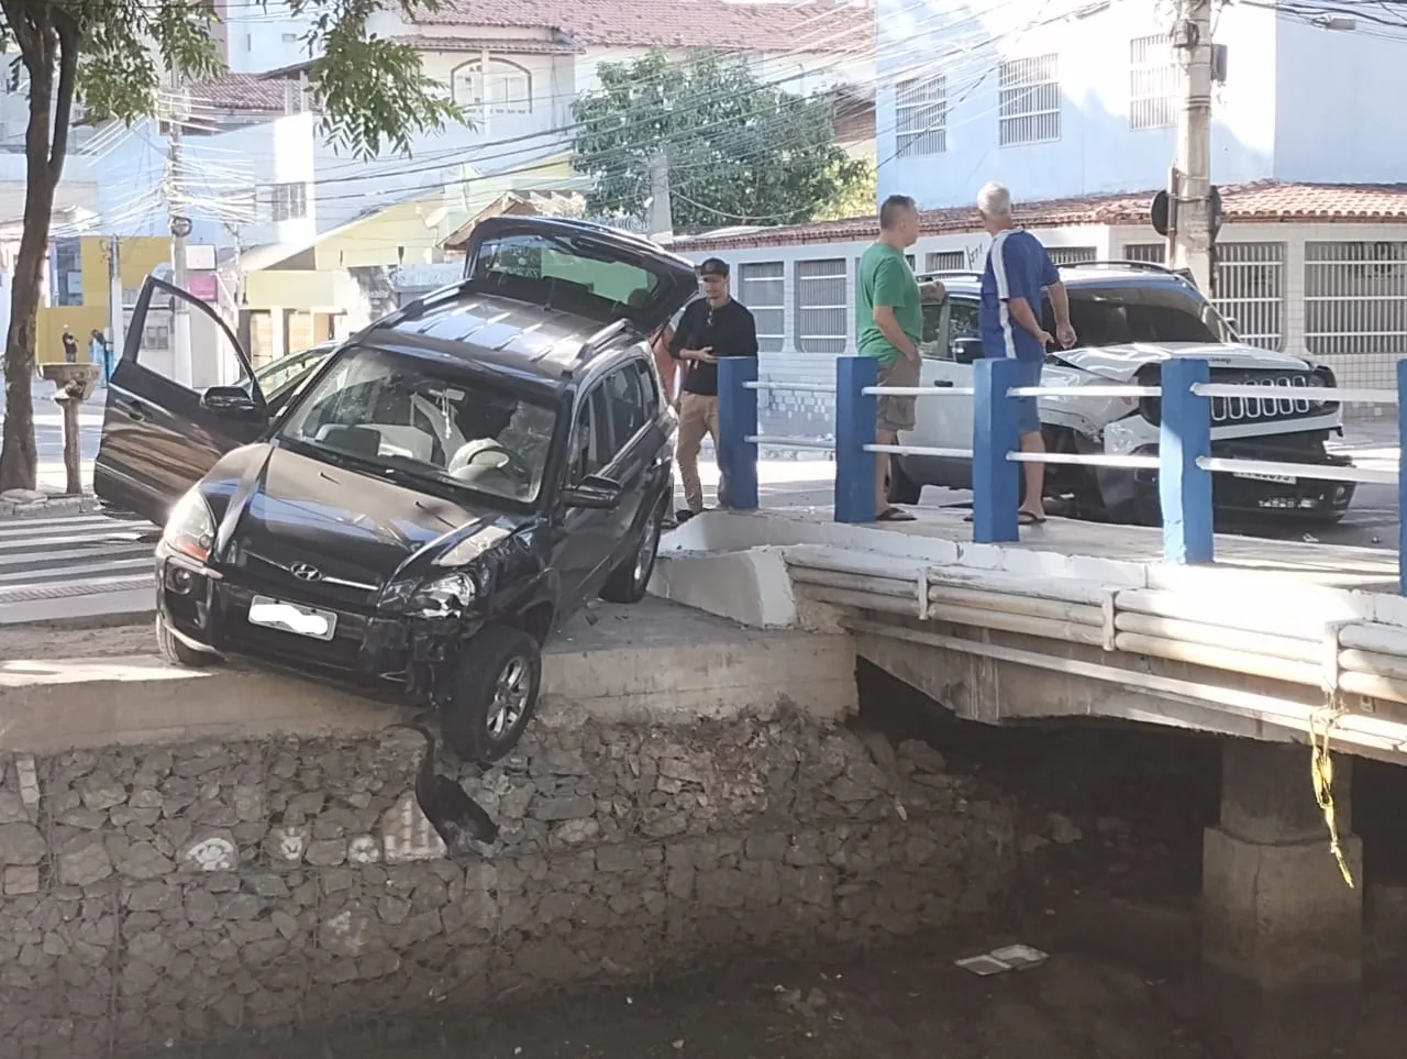
[[[291,449],[250,449],[243,451],[238,491],[246,499],[232,534],[239,563],[284,572],[311,566],[315,575],[294,576],[373,589],[449,531],[502,521],[499,511],[426,496]]]

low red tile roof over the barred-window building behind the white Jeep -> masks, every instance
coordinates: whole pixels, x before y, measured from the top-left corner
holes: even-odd
[[[1064,228],[1082,224],[1141,224],[1155,192],[1123,192],[1082,199],[1050,199],[1017,203],[1016,215],[1031,228]],[[1256,180],[1221,187],[1221,207],[1228,223],[1407,221],[1407,184],[1301,184]],[[978,231],[976,208],[957,206],[923,213],[923,234]],[[726,249],[746,246],[795,246],[810,242],[847,242],[875,234],[874,214],[841,221],[792,224],[749,232],[708,234],[675,239],[673,248]]]

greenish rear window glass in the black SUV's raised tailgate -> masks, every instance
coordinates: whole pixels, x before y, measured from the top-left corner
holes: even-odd
[[[660,296],[666,279],[620,252],[570,234],[514,232],[484,239],[470,273],[484,290],[616,320]]]

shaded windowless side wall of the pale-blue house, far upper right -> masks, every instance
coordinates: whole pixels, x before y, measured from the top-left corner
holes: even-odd
[[[1289,17],[1276,24],[1275,176],[1393,183],[1407,172],[1401,100],[1407,30],[1359,20],[1349,32]]]

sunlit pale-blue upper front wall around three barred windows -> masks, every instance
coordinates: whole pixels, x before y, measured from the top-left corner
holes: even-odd
[[[1078,14],[1092,8],[1092,14]],[[1171,101],[1135,107],[1131,100],[1133,41],[1166,34],[1164,8],[1017,0],[976,11],[954,0],[879,0],[878,13],[881,196],[902,192],[924,207],[944,207],[971,201],[986,180],[1009,184],[1023,200],[1166,183],[1176,107]],[[1217,39],[1234,58],[1227,84],[1216,90],[1213,177],[1235,183],[1271,176],[1276,82],[1269,42],[1275,39],[1275,14],[1245,4],[1221,7]],[[1164,54],[1171,62],[1171,52]],[[1048,120],[1009,121],[1009,141],[1041,142],[1003,145],[1003,59],[1051,55],[1057,56],[1059,82],[1058,130]],[[946,117],[934,124],[943,128],[943,142],[933,137],[900,144],[900,121],[915,111],[898,111],[896,84],[940,75]],[[1172,68],[1162,84],[1172,93],[1178,83]]]

